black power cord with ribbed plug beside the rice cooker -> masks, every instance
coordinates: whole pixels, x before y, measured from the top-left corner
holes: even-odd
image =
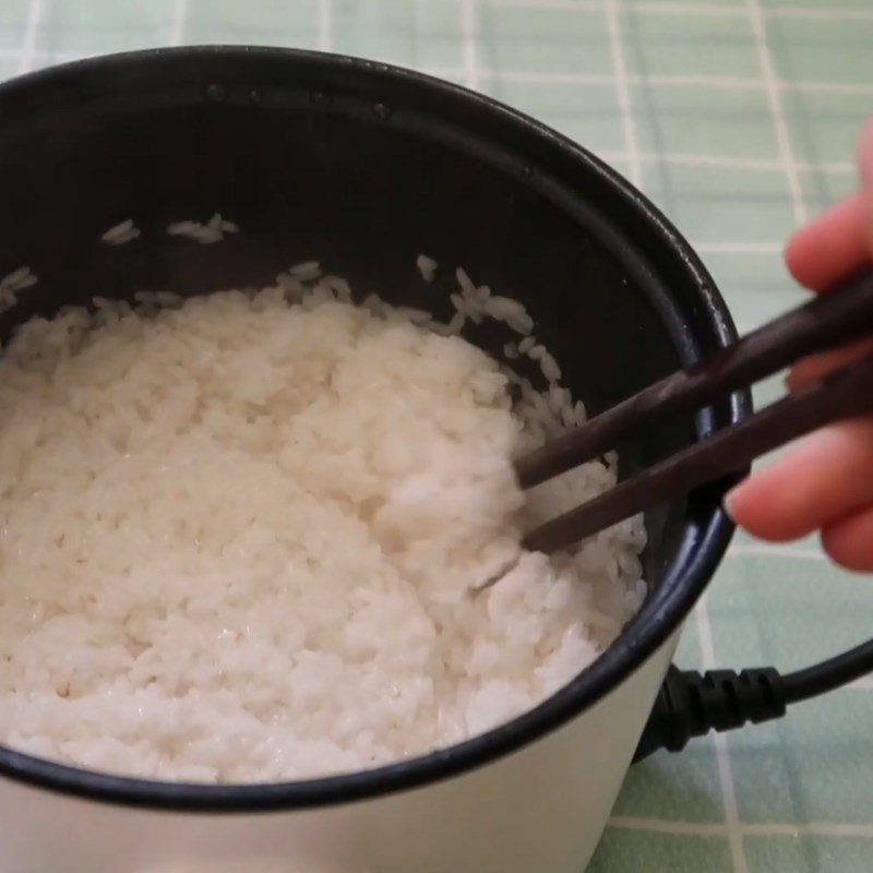
[[[816,663],[781,675],[773,667],[742,670],[679,670],[667,673],[634,762],[659,749],[679,752],[689,740],[710,730],[726,731],[781,718],[792,703],[838,689],[873,671],[873,639]]]

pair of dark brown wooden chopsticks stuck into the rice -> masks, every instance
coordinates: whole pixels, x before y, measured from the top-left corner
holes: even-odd
[[[787,312],[525,455],[515,464],[519,482],[530,488],[589,461],[660,418],[699,409],[801,358],[868,335],[873,335],[873,272]],[[540,525],[525,536],[523,546],[553,552],[742,469],[809,431],[866,414],[873,414],[873,355]]]

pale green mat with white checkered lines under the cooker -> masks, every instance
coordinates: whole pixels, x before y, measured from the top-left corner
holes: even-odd
[[[740,328],[796,303],[786,235],[854,186],[873,0],[0,0],[0,76],[147,46],[333,49],[442,75],[569,134],[692,239]],[[773,398],[773,381],[758,402]],[[873,581],[739,537],[680,661],[797,668],[870,633]],[[822,629],[826,629],[824,632]],[[634,768],[591,870],[873,870],[873,681]]]

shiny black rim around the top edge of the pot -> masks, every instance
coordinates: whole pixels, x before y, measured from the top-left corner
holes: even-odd
[[[358,64],[378,70],[380,75],[414,83],[417,87],[440,91],[462,101],[468,109],[491,112],[513,124],[526,128],[543,147],[559,150],[606,178],[614,195],[631,202],[639,219],[657,227],[665,251],[681,259],[693,272],[696,292],[706,309],[709,327],[720,345],[732,343],[737,332],[727,306],[716,290],[694,250],[679,231],[623,177],[582,146],[534,119],[489,97],[433,76],[384,63],[325,52],[250,46],[192,46],[158,48],[88,58],[29,73],[0,85],[0,100],[22,88],[33,88],[56,76],[76,71],[111,69],[131,60],[156,63],[195,55],[284,57],[319,60],[322,63]],[[730,423],[744,418],[751,409],[748,393],[730,400]],[[711,578],[730,538],[733,524],[714,501],[711,516],[693,554],[668,570],[659,589],[657,610],[644,622],[631,622],[619,639],[572,682],[535,709],[474,739],[444,750],[371,770],[292,782],[256,785],[194,785],[159,782],[110,776],[70,767],[0,746],[0,776],[55,792],[117,805],[187,812],[264,812],[314,809],[355,800],[374,799],[402,790],[421,788],[457,776],[518,751],[542,738],[595,705],[643,665],[687,615]],[[661,596],[661,593],[662,596]],[[645,609],[645,608],[644,608]]]

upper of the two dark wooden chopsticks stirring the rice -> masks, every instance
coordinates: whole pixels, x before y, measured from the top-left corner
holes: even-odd
[[[515,463],[530,488],[603,452],[659,418],[693,411],[728,392],[772,375],[802,357],[873,333],[873,273],[765,324],[689,370],[680,370],[629,397],[582,428],[552,440]]]

